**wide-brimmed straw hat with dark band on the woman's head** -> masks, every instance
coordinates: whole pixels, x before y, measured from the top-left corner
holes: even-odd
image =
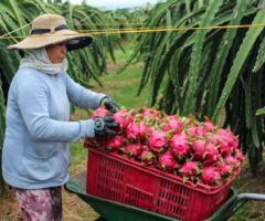
[[[42,14],[32,21],[31,33],[8,49],[39,49],[66,42],[67,51],[82,49],[92,43],[93,38],[67,29],[66,21],[59,14]]]

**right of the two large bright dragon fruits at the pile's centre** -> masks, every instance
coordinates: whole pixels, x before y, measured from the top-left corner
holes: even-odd
[[[188,136],[186,134],[176,134],[170,140],[170,147],[173,156],[178,157],[180,160],[191,150],[191,147],[188,145]]]

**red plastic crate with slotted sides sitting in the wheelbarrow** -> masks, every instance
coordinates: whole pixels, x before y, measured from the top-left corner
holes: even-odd
[[[233,180],[221,187],[194,187],[173,175],[94,148],[88,148],[87,171],[88,194],[186,221],[210,217],[226,200]]]

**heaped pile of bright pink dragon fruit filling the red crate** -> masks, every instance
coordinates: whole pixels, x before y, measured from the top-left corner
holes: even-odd
[[[93,117],[106,115],[103,107],[93,113]],[[199,122],[147,107],[121,109],[113,116],[120,126],[117,135],[89,139],[88,146],[125,155],[192,185],[220,186],[240,171],[244,155],[239,138],[208,118]]]

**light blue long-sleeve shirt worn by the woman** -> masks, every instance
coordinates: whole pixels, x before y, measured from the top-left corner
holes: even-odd
[[[106,96],[86,90],[67,74],[20,69],[8,96],[2,175],[10,186],[39,189],[68,179],[68,141],[94,137],[92,119],[68,122],[70,102],[95,109]]]

